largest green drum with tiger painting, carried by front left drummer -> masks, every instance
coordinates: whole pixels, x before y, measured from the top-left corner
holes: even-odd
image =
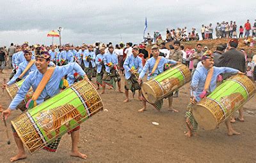
[[[51,99],[12,121],[30,153],[51,144],[95,113],[103,104],[97,90],[86,80],[75,83]]]

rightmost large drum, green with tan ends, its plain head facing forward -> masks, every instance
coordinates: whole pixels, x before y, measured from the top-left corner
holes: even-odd
[[[216,129],[254,94],[254,83],[245,75],[236,74],[195,104],[192,113],[200,127],[205,130]]]

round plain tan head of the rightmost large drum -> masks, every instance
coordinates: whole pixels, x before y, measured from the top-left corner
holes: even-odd
[[[204,106],[196,105],[193,108],[193,116],[200,127],[205,130],[216,129],[218,123],[214,115]]]

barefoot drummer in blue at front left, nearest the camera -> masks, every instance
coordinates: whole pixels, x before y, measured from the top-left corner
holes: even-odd
[[[75,62],[67,64],[65,66],[57,66],[57,67],[55,67],[52,74],[49,74],[48,73],[50,71],[49,69],[52,69],[52,68],[48,68],[50,60],[51,60],[51,55],[49,55],[48,52],[41,52],[39,55],[36,55],[37,69],[35,71],[29,73],[29,75],[24,80],[24,83],[20,87],[19,92],[14,97],[9,108],[2,112],[2,116],[5,119],[7,119],[11,115],[11,111],[15,110],[16,106],[24,99],[24,97],[27,94],[30,87],[33,88],[34,92],[36,92],[36,89],[42,89],[42,87],[44,87],[42,89],[42,91],[40,92],[38,98],[34,101],[34,103],[40,104],[40,103],[43,103],[44,100],[47,99],[48,97],[55,96],[56,94],[58,94],[60,92],[60,81],[62,80],[63,76],[72,72],[73,70],[75,70],[81,76],[84,76],[84,78],[86,80],[88,80],[83,69],[81,69],[81,67]],[[44,80],[45,79],[44,77],[47,76],[48,74],[49,74],[49,77],[48,77],[49,81],[47,81],[47,83],[45,83],[45,85],[39,85],[40,81]],[[74,156],[74,157],[81,157],[82,159],[86,159],[86,155],[84,155],[83,153],[80,153],[78,151],[78,147],[77,147],[78,142],[79,142],[79,131],[78,130],[79,130],[79,126],[76,129],[70,131],[71,138],[72,138],[72,150],[71,150],[70,155]],[[17,136],[17,133],[15,133],[14,129],[13,129],[13,132],[14,132],[13,137],[15,139],[15,142],[17,144],[19,152],[17,155],[15,155],[14,157],[12,157],[10,159],[12,162],[15,160],[26,158],[26,153],[25,153],[22,141],[20,140],[19,136]],[[49,148],[47,150],[51,150],[51,148]]]

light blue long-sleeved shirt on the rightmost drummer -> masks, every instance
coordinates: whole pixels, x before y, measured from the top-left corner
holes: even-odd
[[[237,69],[233,69],[230,67],[213,67],[214,71],[211,78],[211,83],[209,87],[209,91],[212,92],[214,89],[216,89],[217,85],[217,77],[219,74],[223,73],[232,73],[236,74],[239,71]],[[193,91],[193,96],[195,97],[196,101],[199,102],[200,94],[204,91],[204,85],[205,80],[208,74],[208,69],[206,69],[204,66],[198,67],[195,70],[195,73],[193,74],[192,81],[191,81],[191,89]]]

